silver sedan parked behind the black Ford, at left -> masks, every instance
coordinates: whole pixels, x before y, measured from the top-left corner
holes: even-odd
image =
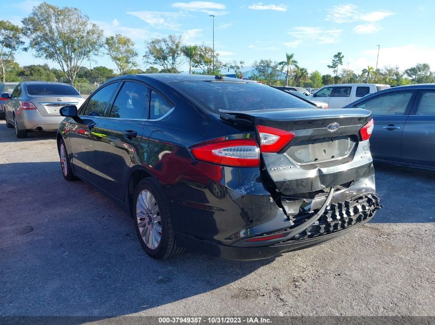
[[[63,120],[59,109],[65,105],[80,107],[83,98],[71,85],[56,82],[22,82],[7,99],[5,119],[15,128],[17,138],[26,138],[28,130],[56,131]]]

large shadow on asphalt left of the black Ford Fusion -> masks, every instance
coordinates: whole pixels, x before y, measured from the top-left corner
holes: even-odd
[[[58,162],[0,168],[0,315],[126,315],[229,285],[274,259],[148,257],[132,219]]]

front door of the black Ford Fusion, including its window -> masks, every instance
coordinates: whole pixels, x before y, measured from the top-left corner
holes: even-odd
[[[98,89],[81,106],[79,118],[67,125],[69,144],[72,150],[74,170],[80,176],[95,182],[94,139],[98,136],[95,127],[104,117],[119,82]]]

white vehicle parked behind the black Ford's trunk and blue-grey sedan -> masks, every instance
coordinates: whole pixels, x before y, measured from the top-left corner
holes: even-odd
[[[320,88],[310,96],[310,100],[319,100],[329,105],[329,108],[341,108],[366,96],[369,93],[390,88],[380,84],[337,84]]]

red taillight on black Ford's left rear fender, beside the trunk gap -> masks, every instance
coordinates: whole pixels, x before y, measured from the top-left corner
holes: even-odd
[[[258,167],[260,153],[257,142],[250,139],[223,140],[192,148],[198,160],[219,165]]]

